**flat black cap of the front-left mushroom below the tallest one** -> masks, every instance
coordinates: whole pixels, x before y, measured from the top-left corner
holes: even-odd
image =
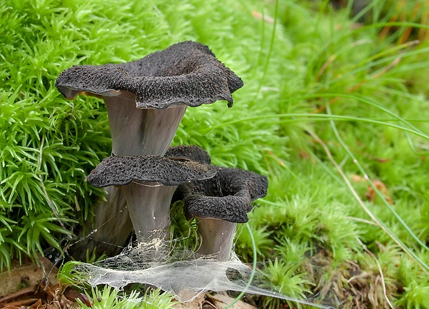
[[[178,186],[215,175],[215,168],[194,161],[176,161],[157,155],[112,156],[102,160],[86,177],[86,181],[98,188],[125,186],[133,181]]]

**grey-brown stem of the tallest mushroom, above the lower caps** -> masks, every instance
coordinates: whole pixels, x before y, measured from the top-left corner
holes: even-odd
[[[119,96],[104,96],[104,102],[109,116],[113,154],[165,154],[188,105],[140,109],[136,108],[135,94],[123,90],[112,94]]]

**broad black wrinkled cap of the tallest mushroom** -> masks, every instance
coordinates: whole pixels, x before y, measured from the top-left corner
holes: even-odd
[[[129,91],[136,95],[140,108],[167,108],[176,103],[197,107],[217,100],[226,100],[231,107],[231,94],[243,81],[208,46],[186,41],[134,62],[73,66],[58,76],[55,86],[66,98]]]

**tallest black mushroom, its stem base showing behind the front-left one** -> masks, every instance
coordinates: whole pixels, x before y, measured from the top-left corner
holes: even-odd
[[[55,86],[69,99],[77,94],[104,99],[113,154],[162,156],[188,106],[226,100],[231,107],[231,94],[242,87],[243,82],[217,60],[208,46],[187,41],[134,62],[73,66],[60,74]],[[118,190],[110,189],[111,196],[120,197],[122,193]],[[118,216],[123,205],[118,198],[116,203],[107,198],[107,204],[95,209],[101,228],[93,237],[101,241],[111,234],[104,224],[107,217],[104,213],[108,211]],[[123,211],[122,216],[125,220],[118,218],[116,222],[126,222],[127,212]],[[131,225],[123,224],[118,228],[130,231]],[[127,235],[118,233],[121,234]],[[125,243],[123,237],[109,241],[118,245]]]

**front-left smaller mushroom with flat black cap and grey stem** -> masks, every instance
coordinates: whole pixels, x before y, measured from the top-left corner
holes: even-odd
[[[112,156],[86,177],[101,188],[121,186],[138,242],[165,238],[170,226],[170,204],[179,184],[215,176],[212,166],[158,155]]]

